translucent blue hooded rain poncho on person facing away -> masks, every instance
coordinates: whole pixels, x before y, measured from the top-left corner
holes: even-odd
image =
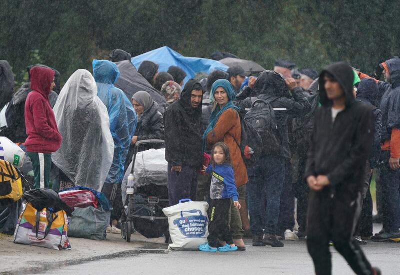
[[[136,113],[125,94],[112,84],[119,76],[114,63],[94,59],[93,74],[97,85],[97,96],[107,107],[109,129],[114,140],[114,157],[104,183],[118,184],[123,177],[130,140],[136,129]]]

